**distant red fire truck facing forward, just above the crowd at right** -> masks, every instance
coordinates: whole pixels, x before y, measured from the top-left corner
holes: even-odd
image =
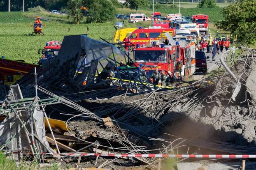
[[[193,23],[196,23],[196,25],[199,25],[200,32],[205,32],[205,34],[207,34],[208,24],[209,24],[208,15],[203,15],[203,14],[193,15]]]

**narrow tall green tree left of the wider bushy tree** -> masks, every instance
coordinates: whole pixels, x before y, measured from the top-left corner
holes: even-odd
[[[67,18],[73,18],[74,23],[79,24],[79,21],[83,19],[82,11],[80,7],[82,6],[81,0],[69,0],[67,2]]]

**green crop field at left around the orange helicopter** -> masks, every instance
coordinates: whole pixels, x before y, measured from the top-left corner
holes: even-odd
[[[0,12],[0,56],[37,63],[40,57],[38,49],[44,48],[47,41],[62,41],[65,35],[85,34],[87,27],[88,36],[93,39],[102,37],[110,41],[115,32],[114,22],[74,25],[43,21],[46,25],[43,27],[44,35],[30,36],[28,34],[33,32],[33,26],[30,26],[33,21],[26,18],[22,12]]]

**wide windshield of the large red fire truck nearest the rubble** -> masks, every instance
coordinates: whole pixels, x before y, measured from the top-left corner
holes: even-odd
[[[135,62],[166,62],[165,50],[135,51]]]

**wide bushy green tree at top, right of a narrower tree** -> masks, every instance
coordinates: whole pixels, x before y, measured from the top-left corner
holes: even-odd
[[[85,5],[88,9],[88,22],[104,23],[114,19],[116,7],[110,0],[86,0]]]

